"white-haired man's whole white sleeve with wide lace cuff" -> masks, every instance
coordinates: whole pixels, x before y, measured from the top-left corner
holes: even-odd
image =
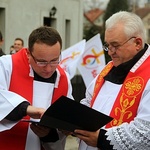
[[[137,116],[130,123],[109,128],[107,139],[117,150],[149,150],[150,149],[150,81],[141,97]]]

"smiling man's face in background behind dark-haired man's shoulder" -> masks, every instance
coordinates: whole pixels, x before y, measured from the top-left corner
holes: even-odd
[[[19,50],[21,50],[24,47],[24,41],[22,38],[16,38],[14,41],[14,50],[17,53]]]

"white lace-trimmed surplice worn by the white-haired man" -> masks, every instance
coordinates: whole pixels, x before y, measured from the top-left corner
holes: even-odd
[[[132,67],[131,72],[138,69],[149,56],[150,47],[141,59]],[[81,101],[82,104],[90,106],[96,79],[97,78],[95,78],[87,88],[86,98]],[[121,86],[122,85],[105,81],[92,108],[109,115]],[[123,123],[106,130],[106,135],[108,136],[107,139],[114,145],[114,150],[150,150],[150,79],[146,83],[142,93],[137,115],[134,120],[130,123]],[[79,150],[98,150],[98,148],[88,146],[83,141],[80,142]]]

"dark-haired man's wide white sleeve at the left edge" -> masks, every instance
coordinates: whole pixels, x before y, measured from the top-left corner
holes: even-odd
[[[20,103],[25,101],[20,95],[8,91],[12,73],[12,60],[10,55],[0,57],[0,128],[6,125],[3,119]],[[12,122],[11,122],[12,124]],[[7,126],[7,125],[6,125]],[[9,125],[8,125],[9,126]]]

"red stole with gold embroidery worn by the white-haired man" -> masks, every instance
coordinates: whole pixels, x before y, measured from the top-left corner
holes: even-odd
[[[143,89],[150,78],[150,69],[147,69],[150,65],[149,62],[150,57],[135,72],[128,73],[110,112],[110,116],[114,119],[106,125],[106,128],[118,126],[123,122],[129,123],[136,116]],[[109,63],[97,78],[91,107],[104,83],[103,77],[111,70],[112,66],[113,63]]]

